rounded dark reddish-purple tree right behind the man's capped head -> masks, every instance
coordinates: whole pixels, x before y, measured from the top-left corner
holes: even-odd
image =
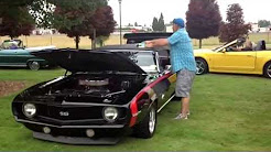
[[[216,0],[191,0],[186,12],[186,29],[192,39],[202,40],[217,36],[221,15]]]

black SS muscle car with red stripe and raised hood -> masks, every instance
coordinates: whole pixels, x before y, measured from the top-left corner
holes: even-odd
[[[12,102],[18,122],[41,140],[69,144],[116,144],[124,130],[151,138],[159,112],[172,98],[176,76],[159,53],[136,45],[46,50],[33,55],[67,69]],[[68,75],[68,73],[71,73]]]

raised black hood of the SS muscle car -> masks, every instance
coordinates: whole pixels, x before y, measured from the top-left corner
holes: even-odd
[[[75,72],[128,72],[145,74],[121,53],[89,50],[44,50],[32,55],[52,62],[72,73]]]

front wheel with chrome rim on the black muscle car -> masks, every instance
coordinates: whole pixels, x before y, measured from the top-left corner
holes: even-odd
[[[153,137],[156,128],[156,107],[153,105],[142,122],[133,128],[133,133],[138,138],[150,139]]]

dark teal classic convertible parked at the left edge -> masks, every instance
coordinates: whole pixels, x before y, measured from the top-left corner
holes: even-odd
[[[0,45],[0,67],[29,67],[33,70],[47,67],[50,65],[47,61],[30,54],[46,48],[55,48],[55,46],[25,48],[20,40],[4,41]]]

